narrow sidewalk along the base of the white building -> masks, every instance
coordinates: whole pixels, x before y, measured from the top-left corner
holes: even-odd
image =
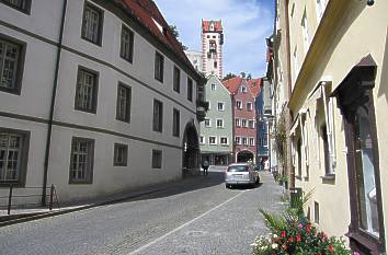
[[[99,197],[94,199],[81,200],[76,202],[65,202],[59,204],[60,208],[54,207],[49,210],[48,207],[37,207],[31,209],[12,209],[11,213],[8,215],[7,210],[0,210],[0,228],[9,224],[21,223],[25,221],[42,219],[46,217],[53,217],[58,215],[64,215],[72,211],[84,210],[98,206],[104,206],[113,202],[119,202],[123,200],[136,198],[142,195],[149,195],[152,193],[161,192],[167,189],[170,185],[189,183],[202,175],[193,175],[190,177],[184,177],[182,179],[170,181],[167,183],[160,183],[156,185],[150,185],[146,187],[136,188],[133,190],[127,190],[123,193],[112,194],[104,197]],[[60,202],[60,201],[59,201]]]

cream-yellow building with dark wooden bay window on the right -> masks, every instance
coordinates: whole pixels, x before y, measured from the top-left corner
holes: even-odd
[[[353,251],[385,254],[388,2],[278,2],[289,23],[295,187],[313,190],[306,213]]]

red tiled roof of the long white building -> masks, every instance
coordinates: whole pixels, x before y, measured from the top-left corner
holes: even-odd
[[[156,36],[163,45],[171,49],[190,69],[194,70],[190,60],[183,51],[182,45],[171,33],[169,24],[160,13],[157,4],[152,0],[114,0],[125,11],[129,12],[141,25],[144,25],[153,36]],[[164,30],[161,32],[155,24],[158,22]]]

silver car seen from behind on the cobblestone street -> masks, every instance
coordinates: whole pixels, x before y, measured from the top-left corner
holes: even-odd
[[[259,171],[249,163],[232,163],[225,171],[225,186],[258,185],[260,183]]]

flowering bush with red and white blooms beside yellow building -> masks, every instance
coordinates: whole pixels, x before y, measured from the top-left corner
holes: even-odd
[[[251,244],[255,255],[351,255],[341,237],[329,237],[318,231],[304,216],[304,207],[311,197],[308,193],[281,216],[260,209],[271,234],[258,236]],[[357,254],[357,253],[354,253]]]

